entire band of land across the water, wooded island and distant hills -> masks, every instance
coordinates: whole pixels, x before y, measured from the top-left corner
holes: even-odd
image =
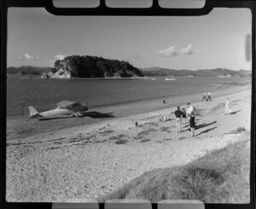
[[[105,59],[89,55],[70,55],[55,61],[54,67],[7,67],[7,74],[37,75],[41,78],[132,78],[152,76],[187,76],[187,77],[251,77],[246,70],[226,68],[175,70],[162,67],[138,68],[128,61]]]

